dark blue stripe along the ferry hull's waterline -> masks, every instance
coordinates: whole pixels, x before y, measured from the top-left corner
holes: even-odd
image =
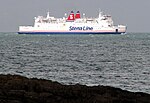
[[[18,32],[18,34],[122,34],[125,32]]]

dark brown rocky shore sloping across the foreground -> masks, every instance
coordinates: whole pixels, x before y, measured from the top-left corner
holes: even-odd
[[[150,94],[0,75],[0,103],[150,103]]]

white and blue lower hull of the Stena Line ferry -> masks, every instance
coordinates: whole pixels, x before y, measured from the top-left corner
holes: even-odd
[[[55,27],[55,26],[54,26]],[[70,29],[70,27],[62,28],[39,28],[32,26],[20,26],[19,34],[122,34],[126,32],[126,27],[110,27],[110,28],[100,28],[95,29],[92,26],[76,26],[76,29]],[[87,30],[88,27],[93,28],[92,30]]]

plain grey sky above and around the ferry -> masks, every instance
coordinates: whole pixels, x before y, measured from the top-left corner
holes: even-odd
[[[150,0],[0,0],[0,32],[17,32],[19,25],[33,25],[33,18],[63,17],[79,10],[88,17],[101,9],[113,17],[115,24],[127,25],[127,32],[150,32]]]

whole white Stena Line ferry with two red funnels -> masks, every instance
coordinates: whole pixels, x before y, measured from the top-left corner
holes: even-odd
[[[99,12],[98,17],[86,17],[73,11],[62,18],[47,13],[46,17],[35,17],[34,26],[19,26],[19,34],[123,34],[126,26],[113,24],[111,15]]]

